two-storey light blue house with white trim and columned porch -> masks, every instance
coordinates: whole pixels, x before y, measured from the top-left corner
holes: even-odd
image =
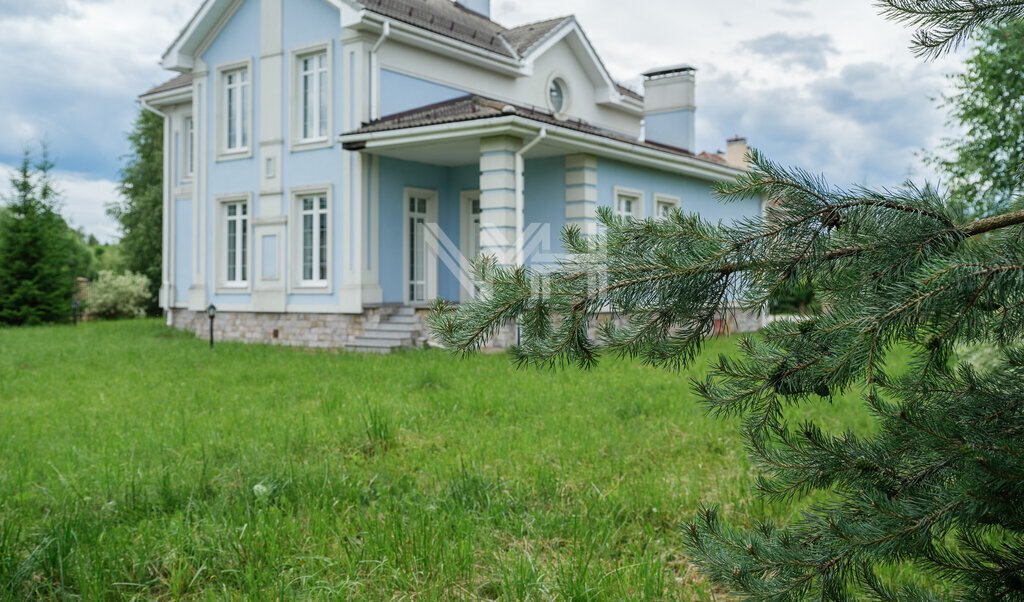
[[[713,220],[745,141],[694,149],[694,70],[611,79],[577,20],[506,29],[488,0],[206,0],[140,101],[166,117],[169,320],[389,349],[474,294],[469,262],[553,263],[597,208]],[[623,18],[629,18],[626,8]],[[340,134],[340,135],[339,135]]]

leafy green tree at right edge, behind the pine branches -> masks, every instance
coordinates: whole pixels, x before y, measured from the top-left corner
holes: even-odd
[[[1024,169],[1024,23],[985,30],[955,93],[943,98],[950,125],[963,133],[944,141],[929,162],[947,179],[952,200],[976,215],[1005,209],[1021,191]]]

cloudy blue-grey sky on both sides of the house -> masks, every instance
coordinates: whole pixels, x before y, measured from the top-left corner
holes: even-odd
[[[160,56],[200,4],[0,0],[0,171],[45,140],[66,217],[116,240],[104,208],[135,98],[173,76]],[[612,77],[637,89],[651,68],[696,67],[698,150],[742,135],[834,183],[886,186],[934,178],[918,155],[950,134],[934,99],[963,52],[914,57],[911,32],[871,0],[492,0],[492,10],[508,27],[575,14]]]

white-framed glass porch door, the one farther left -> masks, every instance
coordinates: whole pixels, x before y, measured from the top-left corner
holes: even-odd
[[[437,296],[437,192],[406,189],[406,301],[424,305]]]

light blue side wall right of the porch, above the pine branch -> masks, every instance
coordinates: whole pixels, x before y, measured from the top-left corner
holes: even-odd
[[[712,182],[677,175],[656,169],[599,159],[597,162],[597,201],[601,207],[611,207],[615,186],[643,190],[644,215],[653,215],[654,195],[671,195],[680,199],[680,209],[698,213],[710,221],[730,222],[761,211],[758,201],[723,203],[712,195]]]

